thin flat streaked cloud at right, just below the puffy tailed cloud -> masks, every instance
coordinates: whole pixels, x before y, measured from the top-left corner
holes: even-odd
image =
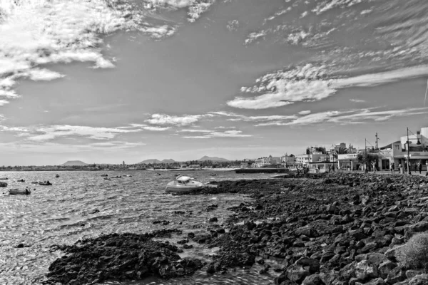
[[[367,122],[382,122],[395,117],[412,115],[428,115],[428,108],[407,108],[400,110],[377,110],[379,108],[365,108],[354,110],[332,110],[320,113],[302,115],[294,120],[278,120],[260,123],[256,126],[267,125],[317,125],[320,123],[335,123],[340,125],[363,124]]]

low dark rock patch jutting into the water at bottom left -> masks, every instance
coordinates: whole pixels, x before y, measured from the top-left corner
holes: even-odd
[[[170,279],[193,274],[203,267],[199,259],[180,259],[178,247],[155,242],[176,230],[151,234],[108,234],[71,246],[56,246],[67,255],[49,266],[44,284],[95,284],[106,279],[144,279],[156,275]]]

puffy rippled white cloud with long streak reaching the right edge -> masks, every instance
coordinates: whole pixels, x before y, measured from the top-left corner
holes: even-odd
[[[243,93],[262,93],[250,98],[236,97],[228,105],[243,109],[266,109],[296,102],[313,102],[334,95],[337,90],[351,87],[371,87],[384,83],[428,75],[428,66],[400,68],[394,71],[370,73],[349,78],[327,76],[326,66],[297,66],[285,71],[268,73],[258,78],[258,85],[243,87]]]

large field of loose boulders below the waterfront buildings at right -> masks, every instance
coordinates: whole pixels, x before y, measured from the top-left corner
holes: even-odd
[[[281,272],[277,285],[428,284],[428,274],[397,262],[399,247],[428,230],[424,177],[334,173],[217,184],[202,192],[255,199],[231,208],[236,214],[229,232],[205,239],[222,249],[208,265],[210,273],[253,265],[260,256],[283,259],[275,269]],[[238,221],[246,222],[233,224]]]

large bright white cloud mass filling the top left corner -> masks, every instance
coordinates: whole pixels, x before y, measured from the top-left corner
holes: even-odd
[[[186,1],[168,1],[173,4]],[[190,6],[199,6],[192,1]],[[196,9],[196,8],[195,8]],[[93,62],[94,68],[113,68],[103,56],[101,34],[136,30],[155,39],[175,33],[172,24],[151,24],[146,9],[129,0],[0,1],[0,96],[16,98],[16,80],[51,81],[63,77],[39,68],[49,63]],[[195,19],[195,17],[194,17]]]

